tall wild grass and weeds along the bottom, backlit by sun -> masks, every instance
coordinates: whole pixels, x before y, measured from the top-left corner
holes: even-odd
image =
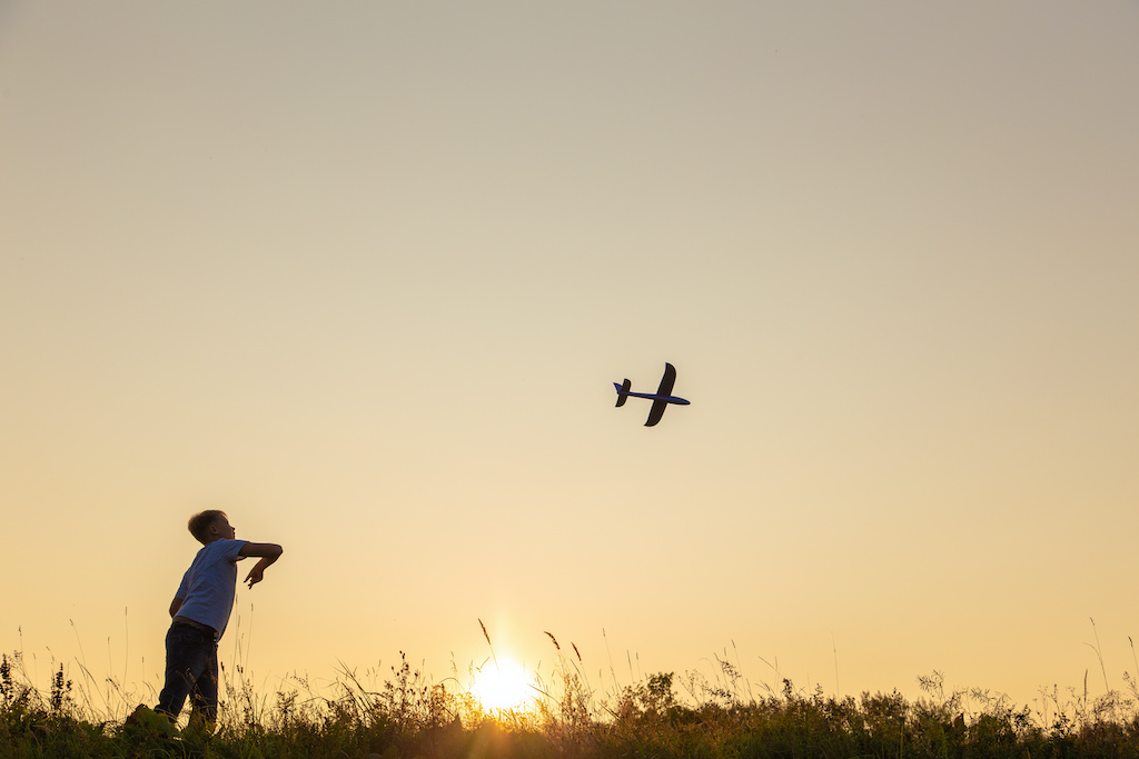
[[[99,682],[83,662],[73,677],[52,661],[41,690],[23,652],[0,654],[0,757],[1139,757],[1130,675],[1125,691],[1098,698],[1085,684],[1041,690],[1034,708],[948,690],[939,671],[918,677],[916,700],[898,691],[830,696],[781,675],[754,686],[726,650],[711,674],[654,673],[603,692],[577,646],[546,635],[552,670],[535,675],[524,709],[487,710],[458,675],[436,683],[402,652],[386,671],[342,663],[325,687],[293,675],[257,688],[238,660],[222,673],[218,732],[177,739],[123,724],[129,707],[154,703],[153,688]]]

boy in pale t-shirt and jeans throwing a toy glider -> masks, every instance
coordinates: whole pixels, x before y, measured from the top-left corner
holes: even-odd
[[[213,733],[218,724],[218,641],[233,609],[237,562],[246,556],[261,558],[245,576],[252,588],[261,581],[265,567],[280,558],[281,547],[235,539],[223,511],[203,511],[187,526],[203,547],[170,604],[173,621],[166,633],[166,683],[154,710],[174,723],[186,696],[190,696],[190,724]]]

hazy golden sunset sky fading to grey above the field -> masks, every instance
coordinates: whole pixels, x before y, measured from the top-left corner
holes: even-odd
[[[0,2],[0,650],[1139,663],[1139,5]],[[613,382],[691,401],[644,426]],[[244,576],[244,572],[243,572]],[[1103,661],[1103,665],[1101,665]]]

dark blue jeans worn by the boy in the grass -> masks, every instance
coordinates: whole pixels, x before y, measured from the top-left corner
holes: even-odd
[[[166,633],[166,684],[154,710],[175,720],[186,696],[207,723],[218,721],[218,642],[206,630],[174,622]]]

